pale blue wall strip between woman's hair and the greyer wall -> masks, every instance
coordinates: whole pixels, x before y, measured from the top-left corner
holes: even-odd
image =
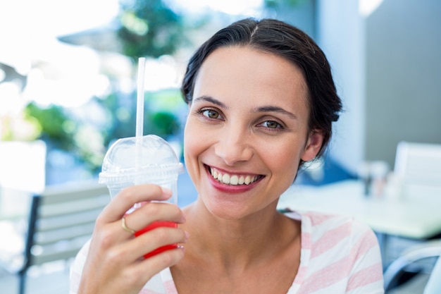
[[[335,124],[330,156],[356,172],[365,152],[365,27],[358,1],[318,0],[317,42],[325,52],[344,112]]]

